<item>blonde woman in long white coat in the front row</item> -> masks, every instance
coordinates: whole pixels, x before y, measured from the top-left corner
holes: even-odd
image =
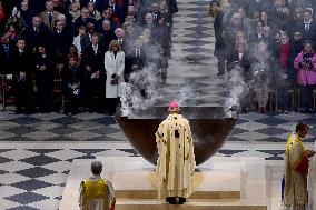
[[[117,40],[109,44],[109,50],[105,54],[105,69],[107,73],[106,99],[108,111],[113,114],[116,106],[121,96],[120,83],[124,82],[125,53]]]

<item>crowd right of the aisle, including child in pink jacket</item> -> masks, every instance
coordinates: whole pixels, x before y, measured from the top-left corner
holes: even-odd
[[[315,111],[315,0],[210,1],[218,74],[240,71],[243,111],[266,112],[269,98],[284,113]]]

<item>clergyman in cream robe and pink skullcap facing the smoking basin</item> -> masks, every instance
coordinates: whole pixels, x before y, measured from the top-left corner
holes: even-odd
[[[158,198],[176,204],[186,202],[192,193],[195,154],[189,121],[179,114],[177,102],[169,104],[170,114],[164,120],[157,132],[158,148],[157,177]]]

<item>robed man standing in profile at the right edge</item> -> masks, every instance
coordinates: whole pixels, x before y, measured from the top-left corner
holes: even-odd
[[[298,123],[286,143],[283,199],[285,209],[305,210],[307,204],[308,158],[315,154],[314,151],[306,150],[302,142],[307,131],[307,124]]]

